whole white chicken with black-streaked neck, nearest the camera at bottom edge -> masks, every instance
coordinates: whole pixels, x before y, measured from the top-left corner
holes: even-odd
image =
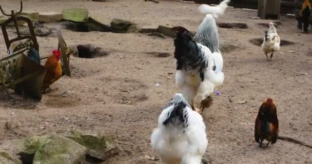
[[[166,164],[200,164],[208,147],[202,116],[177,93],[161,112],[151,135],[152,149]]]

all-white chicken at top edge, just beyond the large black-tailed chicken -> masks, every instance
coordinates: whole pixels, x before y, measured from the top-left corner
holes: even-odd
[[[212,14],[214,19],[218,19],[220,16],[224,14],[225,9],[228,6],[228,3],[230,3],[230,0],[224,0],[218,6],[209,6],[203,4],[199,6],[198,9],[201,13]]]

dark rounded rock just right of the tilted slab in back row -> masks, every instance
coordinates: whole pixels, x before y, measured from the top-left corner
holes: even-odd
[[[127,20],[113,19],[110,23],[112,30],[116,33],[127,33],[137,31],[136,24]]]

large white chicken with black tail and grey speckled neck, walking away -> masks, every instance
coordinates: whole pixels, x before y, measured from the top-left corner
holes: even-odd
[[[196,97],[204,110],[211,104],[209,96],[214,88],[224,81],[216,21],[207,14],[194,38],[185,28],[173,29],[177,30],[177,38],[174,39],[174,58],[177,59],[175,84],[192,107]]]

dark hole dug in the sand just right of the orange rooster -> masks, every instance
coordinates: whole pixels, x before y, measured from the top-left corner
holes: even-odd
[[[108,55],[103,48],[94,45],[78,45],[76,48],[78,52],[73,53],[73,55],[80,58],[94,58]]]

